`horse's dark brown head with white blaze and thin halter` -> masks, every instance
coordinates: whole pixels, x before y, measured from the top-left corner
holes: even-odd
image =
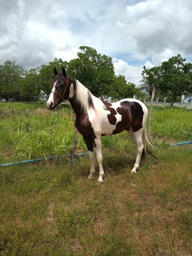
[[[69,84],[65,68],[62,67],[62,73],[59,74],[57,69],[54,68],[55,78],[51,82],[52,91],[47,100],[47,108],[55,109],[57,106],[68,99],[69,97]]]

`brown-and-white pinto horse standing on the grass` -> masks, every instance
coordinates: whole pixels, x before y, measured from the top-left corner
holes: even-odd
[[[91,170],[88,179],[95,172],[95,148],[99,164],[99,182],[103,182],[103,166],[101,153],[101,136],[111,135],[126,130],[137,147],[137,158],[131,172],[136,173],[142,153],[147,153],[146,120],[148,110],[145,104],[135,99],[123,99],[114,103],[105,102],[95,97],[83,84],[54,68],[55,78],[51,86],[52,92],[47,100],[47,108],[55,109],[68,99],[76,114],[75,126],[83,135],[89,151]],[[150,144],[150,143],[149,143]]]

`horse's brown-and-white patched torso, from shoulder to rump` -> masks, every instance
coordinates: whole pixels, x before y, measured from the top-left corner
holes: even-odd
[[[103,102],[103,101],[102,101]],[[89,120],[97,134],[109,135],[129,131],[139,131],[146,123],[147,107],[139,100],[123,99],[106,103],[107,109],[89,112]]]

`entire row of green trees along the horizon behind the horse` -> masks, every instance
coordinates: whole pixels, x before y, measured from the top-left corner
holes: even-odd
[[[70,77],[78,79],[96,97],[118,100],[123,98],[144,99],[150,97],[156,87],[159,98],[167,97],[167,101],[177,101],[181,95],[192,94],[192,64],[178,54],[159,66],[142,71],[142,81],[137,87],[127,82],[122,75],[115,75],[112,59],[101,55],[89,46],[79,47],[77,58],[69,62],[55,58],[48,65],[26,70],[9,60],[0,65],[0,98],[20,101],[20,96],[35,97],[41,92],[49,95],[50,83],[54,77],[53,68],[59,71],[62,66]],[[34,98],[38,99],[38,97]],[[25,98],[24,98],[25,100]],[[180,100],[179,100],[180,101]]]

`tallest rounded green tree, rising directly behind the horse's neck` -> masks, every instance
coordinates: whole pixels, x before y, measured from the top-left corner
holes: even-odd
[[[79,47],[78,58],[69,61],[67,74],[79,80],[96,97],[108,98],[114,83],[112,59],[88,46]]]

